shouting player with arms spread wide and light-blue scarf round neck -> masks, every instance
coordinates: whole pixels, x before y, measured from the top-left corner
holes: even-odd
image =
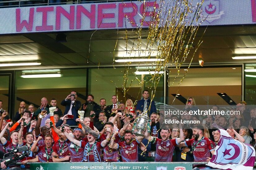
[[[82,124],[83,125],[83,124]],[[104,140],[102,142],[97,142],[95,138],[95,132],[94,130],[91,130],[88,133],[88,142],[83,142],[74,139],[72,136],[70,136],[67,132],[64,132],[65,136],[70,140],[70,142],[73,142],[75,146],[78,146],[80,148],[84,148],[84,155],[78,155],[79,157],[83,158],[83,162],[101,162],[101,152],[104,147],[106,147],[109,140]],[[107,139],[110,138],[110,133],[107,135]],[[79,148],[76,148],[76,150]]]

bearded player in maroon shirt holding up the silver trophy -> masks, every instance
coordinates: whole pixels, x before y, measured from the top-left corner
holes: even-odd
[[[119,148],[123,162],[138,162],[138,146],[144,136],[138,136],[136,140],[133,140],[132,131],[126,130],[124,132],[124,141],[115,143],[116,134],[118,134],[118,131],[116,131],[110,139],[109,147],[115,150]]]

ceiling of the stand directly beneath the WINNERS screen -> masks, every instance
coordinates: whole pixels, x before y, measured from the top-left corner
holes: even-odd
[[[235,61],[231,58],[234,54],[256,54],[255,25],[201,27],[195,42],[201,38],[205,29],[203,43],[192,61],[196,66],[198,66],[199,55],[204,58],[205,64],[256,62],[256,60]],[[141,33],[142,48],[146,48],[147,32],[143,30]],[[126,47],[130,50],[137,42],[137,33],[134,30],[128,31],[128,41],[125,39],[125,30],[66,32],[65,34],[68,40],[61,43],[56,42],[57,33],[0,36],[0,60],[12,62],[19,58],[42,63],[41,66],[33,66],[33,68],[111,66],[113,57],[124,56]],[[157,49],[157,46],[155,45],[153,49]],[[187,61],[190,61],[190,58]],[[123,65],[123,63],[115,63],[115,65]],[[31,69],[31,67],[15,67],[15,69],[26,68]],[[6,69],[10,70],[14,67],[1,68],[1,70]]]

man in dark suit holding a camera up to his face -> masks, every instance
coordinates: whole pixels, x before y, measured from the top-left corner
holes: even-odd
[[[81,102],[76,99],[76,91],[71,91],[70,94],[65,98],[65,100],[62,100],[61,102],[61,105],[65,106],[64,115],[74,115],[73,119],[67,119],[67,124],[70,126],[77,125],[77,122],[75,120],[78,118],[78,110],[81,107]]]

